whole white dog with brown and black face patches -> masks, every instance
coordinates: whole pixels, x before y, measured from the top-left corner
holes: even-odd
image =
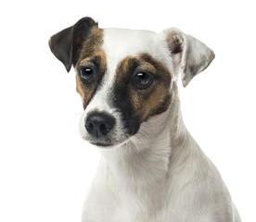
[[[239,222],[223,179],[184,124],[184,87],[214,53],[198,39],[100,29],[80,19],[49,40],[83,101],[80,130],[102,153],[83,222]]]

